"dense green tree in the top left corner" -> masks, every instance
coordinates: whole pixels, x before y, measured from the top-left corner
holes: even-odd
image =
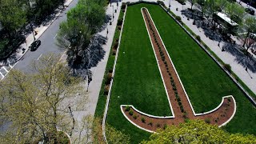
[[[26,11],[18,0],[0,1],[0,22],[7,30],[9,37],[26,23]]]

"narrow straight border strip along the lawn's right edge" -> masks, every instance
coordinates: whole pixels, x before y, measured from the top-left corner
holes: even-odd
[[[230,76],[231,80],[240,88],[240,90],[242,90],[242,92],[243,92],[244,94],[246,94],[246,97],[247,97],[247,98],[250,100],[250,102],[252,102],[252,104],[256,107],[256,101],[254,100],[254,98],[252,98],[252,97],[250,96],[250,94],[241,86],[241,84],[238,83],[238,82],[232,77],[232,75],[230,74],[230,72],[227,71],[227,70],[224,68],[224,66],[222,66],[222,64],[221,64],[220,62],[218,62],[218,60],[217,60],[216,58],[214,58],[214,56],[213,56],[212,54],[210,54],[210,52],[209,52],[208,50],[206,50],[206,47],[205,47],[205,46],[202,46],[201,42],[198,42],[198,40],[197,40],[196,38],[194,38],[194,36],[193,36],[192,34],[190,34],[190,32],[189,32],[188,30],[186,30],[186,28],[185,28],[184,26],[182,26],[182,24],[181,24],[180,22],[178,22],[178,21],[174,18],[174,16],[173,16],[172,14],[170,14],[170,12],[169,12],[168,10],[166,10],[166,8],[165,8],[164,6],[162,6],[162,5],[160,5],[160,4],[159,4],[159,6],[161,6],[162,9],[165,10],[166,13],[169,14],[170,17],[173,18],[174,21],[177,22],[178,25],[181,26],[182,29],[185,30],[186,33],[189,34],[190,37],[194,39],[195,42],[197,42],[198,46],[200,46],[200,47],[202,48],[202,50],[205,50],[205,51],[206,51],[206,54],[208,54],[208,55],[210,56],[210,58],[212,58],[212,59],[214,60],[214,62],[216,62],[216,63],[218,64],[218,66],[220,66],[220,67],[222,68],[222,70],[224,70],[224,71],[226,72],[226,74],[228,74],[228,75]],[[184,25],[185,25],[185,24],[184,24]]]

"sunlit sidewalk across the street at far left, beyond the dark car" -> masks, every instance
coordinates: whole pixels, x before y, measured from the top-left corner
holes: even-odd
[[[70,3],[73,0],[66,0],[64,3],[65,6],[69,6]],[[62,13],[62,10],[59,10],[57,14],[55,14],[54,19],[52,19],[46,26],[41,25],[40,27],[37,27],[34,29],[34,31],[37,31],[37,35],[35,35],[35,38],[38,39],[41,37],[41,35],[47,30],[47,28],[58,18],[58,16]],[[29,46],[34,42],[34,36],[32,33],[28,34],[26,36],[26,42],[22,43],[22,45],[14,52],[14,54],[11,54],[9,58],[5,61],[0,61],[0,66],[9,66],[9,65],[15,65],[16,62],[18,62],[23,55],[26,54],[27,50],[29,50]],[[22,50],[23,49],[23,50]]]

